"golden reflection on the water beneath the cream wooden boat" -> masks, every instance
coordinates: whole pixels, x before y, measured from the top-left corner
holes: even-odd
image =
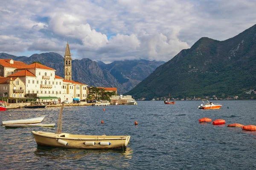
[[[38,146],[34,151],[35,156],[47,159],[77,159],[88,156],[106,156],[106,159],[113,159],[116,157],[124,156],[127,159],[132,158],[133,150],[127,147],[124,152],[122,149],[108,149],[108,150],[84,150],[84,149],[72,149],[72,148],[55,148],[55,147],[41,147]]]

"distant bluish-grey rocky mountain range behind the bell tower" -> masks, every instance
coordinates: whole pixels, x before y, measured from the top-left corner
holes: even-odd
[[[1,59],[12,58],[31,64],[39,61],[45,66],[56,69],[55,74],[64,77],[64,57],[55,52],[33,54],[30,57],[0,53]],[[115,61],[105,64],[101,61],[92,61],[89,58],[72,60],[72,79],[89,86],[116,87],[119,94],[131,90],[140,83],[164,61]]]

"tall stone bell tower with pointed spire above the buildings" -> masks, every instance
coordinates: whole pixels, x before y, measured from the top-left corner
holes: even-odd
[[[72,80],[72,63],[69,45],[67,42],[66,52],[64,56],[64,79]]]

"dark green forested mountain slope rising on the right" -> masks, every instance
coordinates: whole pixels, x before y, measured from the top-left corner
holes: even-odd
[[[256,89],[256,25],[218,41],[199,39],[129,91],[135,98],[243,95]]]

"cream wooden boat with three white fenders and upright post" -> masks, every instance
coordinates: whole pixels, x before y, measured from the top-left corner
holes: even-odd
[[[64,103],[58,117],[57,133],[32,131],[38,145],[49,147],[84,148],[84,149],[110,149],[125,148],[130,141],[129,135],[73,135],[61,132],[61,115]]]

